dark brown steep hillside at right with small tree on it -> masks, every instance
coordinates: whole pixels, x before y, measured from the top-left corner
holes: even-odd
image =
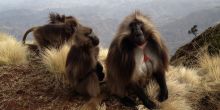
[[[220,24],[209,27],[203,33],[195,37],[191,42],[177,49],[171,57],[172,65],[197,66],[198,58],[202,54],[201,49],[207,46],[210,55],[220,52]]]

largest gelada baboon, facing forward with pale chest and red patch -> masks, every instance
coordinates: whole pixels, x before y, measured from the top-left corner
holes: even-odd
[[[160,91],[159,101],[168,98],[165,71],[168,69],[168,54],[159,32],[148,17],[136,11],[119,27],[112,41],[106,60],[107,84],[110,92],[127,106],[135,102],[127,96],[133,91],[147,108],[156,104],[145,94],[149,79],[156,79]]]

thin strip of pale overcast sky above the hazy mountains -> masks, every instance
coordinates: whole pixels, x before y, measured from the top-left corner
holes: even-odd
[[[197,4],[204,5],[206,3],[215,5],[216,3],[219,3],[220,0],[0,0],[0,11],[7,10],[7,9],[13,9],[13,8],[25,8],[25,7],[32,7],[35,8],[59,8],[59,7],[71,7],[71,6],[83,6],[83,5],[114,5],[117,3],[123,3],[123,2],[131,2],[131,3],[137,3],[137,2],[179,2],[181,3],[191,3],[191,2],[198,2]],[[172,5],[172,4],[170,4]]]

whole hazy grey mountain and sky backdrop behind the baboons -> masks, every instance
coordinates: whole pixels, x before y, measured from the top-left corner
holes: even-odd
[[[138,9],[151,17],[173,52],[192,38],[191,26],[201,32],[218,22],[218,7],[219,0],[7,0],[0,1],[0,31],[21,39],[28,28],[47,23],[49,12],[59,12],[93,27],[108,46],[123,18]]]

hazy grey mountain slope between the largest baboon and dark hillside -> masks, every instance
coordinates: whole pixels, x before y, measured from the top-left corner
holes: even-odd
[[[160,30],[168,41],[170,50],[173,53],[173,50],[194,38],[193,35],[188,34],[188,30],[193,25],[198,25],[198,33],[200,34],[208,27],[219,23],[219,21],[220,7],[216,7],[191,13],[186,17],[162,26]]]

